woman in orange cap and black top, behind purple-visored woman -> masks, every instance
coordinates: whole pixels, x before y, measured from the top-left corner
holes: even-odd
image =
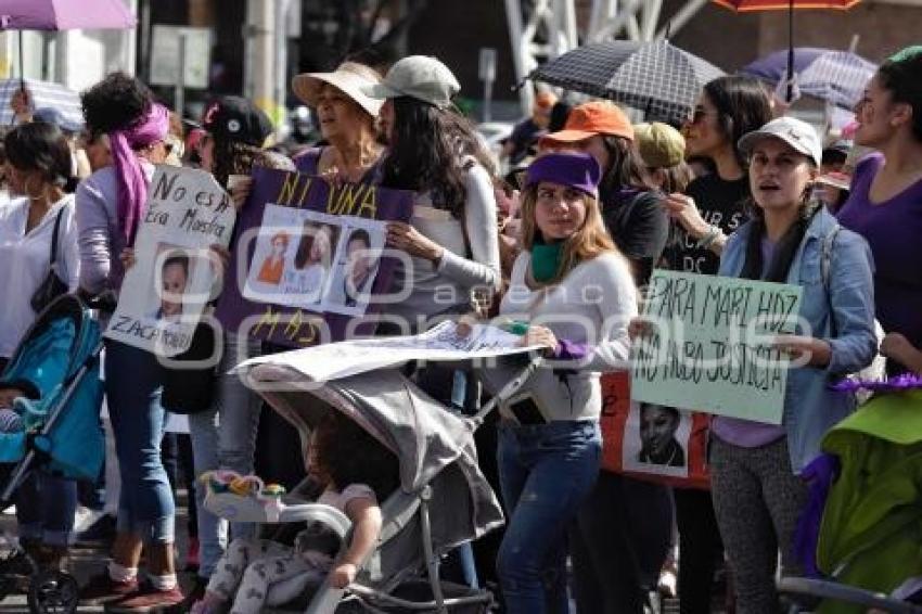
[[[657,205],[662,194],[652,189],[633,140],[627,115],[611,102],[598,101],[576,106],[564,129],[547,135],[541,146],[577,149],[599,162],[605,228],[643,285],[666,246],[669,219]]]

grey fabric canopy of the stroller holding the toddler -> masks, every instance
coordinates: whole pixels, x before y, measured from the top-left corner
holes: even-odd
[[[397,455],[405,493],[432,488],[436,550],[476,539],[502,523],[499,501],[477,466],[474,421],[449,411],[401,372],[384,369],[318,384],[291,368],[260,364],[248,379],[303,437],[335,408]]]

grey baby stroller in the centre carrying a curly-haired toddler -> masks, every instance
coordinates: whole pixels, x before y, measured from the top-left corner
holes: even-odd
[[[379,542],[356,581],[338,590],[324,580],[305,591],[309,598],[289,606],[308,614],[487,611],[491,594],[440,580],[438,562],[457,546],[502,524],[496,495],[477,466],[473,436],[496,404],[515,394],[537,364],[537,360],[529,363],[473,417],[450,412],[396,369],[318,385],[284,367],[253,368],[251,380],[272,385],[272,389],[260,386],[259,394],[302,437],[324,412],[340,411],[394,451],[400,466],[400,488],[382,503]],[[207,499],[205,504],[228,515],[220,504]],[[287,506],[279,520],[326,522],[344,540],[348,538],[348,519],[328,506]]]

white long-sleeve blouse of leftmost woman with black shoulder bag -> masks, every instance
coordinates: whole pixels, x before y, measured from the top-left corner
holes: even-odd
[[[48,276],[54,220],[61,212],[57,230],[56,272],[71,292],[77,290],[80,256],[74,195],[54,203],[28,233],[29,200],[14,199],[0,206],[0,357],[10,358],[35,321],[31,297]]]

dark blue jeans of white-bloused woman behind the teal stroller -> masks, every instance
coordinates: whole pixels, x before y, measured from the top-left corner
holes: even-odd
[[[21,539],[67,546],[77,508],[76,482],[34,470],[20,485],[15,500]]]

